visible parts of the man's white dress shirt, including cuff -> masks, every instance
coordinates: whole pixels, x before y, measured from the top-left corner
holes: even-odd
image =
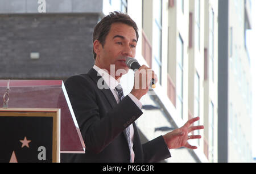
[[[109,86],[112,94],[115,97],[115,100],[117,103],[119,103],[118,99],[118,92],[115,90],[115,87],[119,84],[115,78],[113,78],[111,75],[109,75],[108,71],[100,69],[98,66],[94,65],[93,69],[98,72],[98,74],[101,75],[101,77],[104,79],[106,84]],[[139,101],[133,94],[128,94],[128,96],[133,100],[133,102],[138,106],[139,109],[142,108],[142,103]],[[134,162],[134,151],[133,151],[133,137],[134,137],[134,129],[133,129],[133,124],[130,125],[130,142],[131,142],[131,162]]]

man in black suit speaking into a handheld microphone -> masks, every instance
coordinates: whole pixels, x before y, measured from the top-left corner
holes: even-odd
[[[171,148],[196,148],[187,141],[201,138],[200,135],[188,136],[191,131],[204,128],[191,126],[199,117],[142,145],[134,121],[142,115],[139,100],[147,94],[152,77],[155,83],[157,77],[142,65],[135,73],[129,95],[123,96],[119,84],[129,70],[126,58],[135,57],[137,41],[137,25],[126,14],[112,12],[94,28],[95,65],[87,74],[76,75],[65,82],[86,152],[62,154],[62,162],[159,162],[171,156]]]

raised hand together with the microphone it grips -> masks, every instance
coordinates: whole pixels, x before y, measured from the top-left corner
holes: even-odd
[[[131,91],[138,99],[145,94],[149,89],[149,86],[155,88],[155,83],[157,82],[157,77],[153,70],[151,70],[146,65],[139,65],[138,61],[135,58],[126,58],[126,65],[129,69],[135,71],[134,75],[134,87]]]

